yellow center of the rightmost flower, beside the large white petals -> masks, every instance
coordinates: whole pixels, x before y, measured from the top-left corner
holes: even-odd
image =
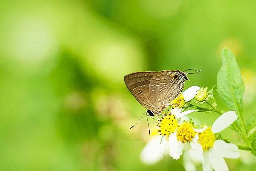
[[[211,127],[208,127],[202,133],[198,133],[199,143],[202,145],[203,150],[208,150],[213,146],[215,135],[212,133]]]

